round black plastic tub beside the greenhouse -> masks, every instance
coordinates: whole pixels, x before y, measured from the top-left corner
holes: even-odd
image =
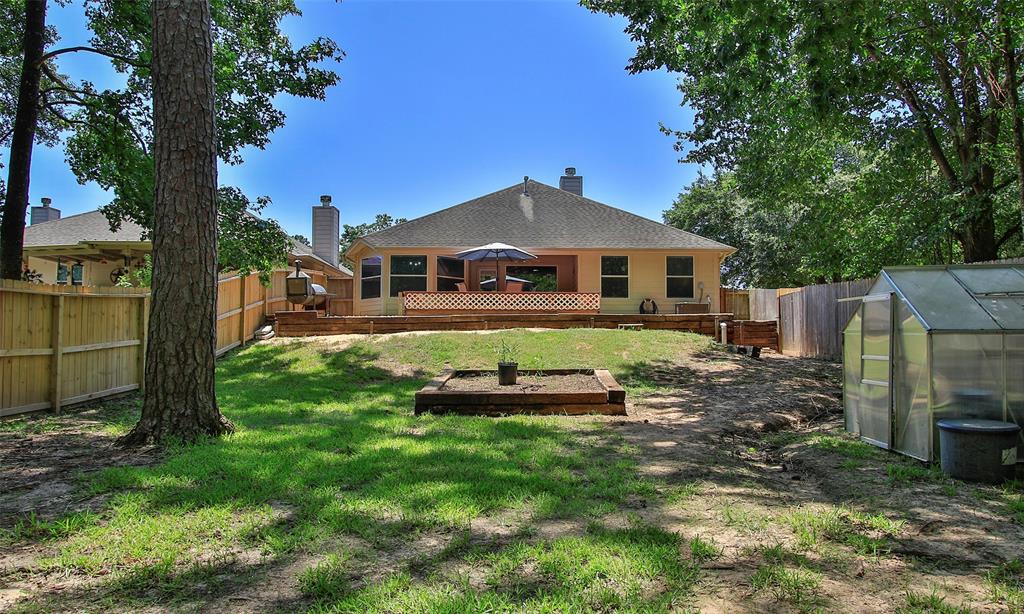
[[[969,482],[998,484],[1014,477],[1021,428],[975,418],[940,420],[942,473]]]

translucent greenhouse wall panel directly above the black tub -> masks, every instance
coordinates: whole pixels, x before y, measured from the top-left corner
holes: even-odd
[[[1002,420],[1002,335],[933,335],[934,418]]]

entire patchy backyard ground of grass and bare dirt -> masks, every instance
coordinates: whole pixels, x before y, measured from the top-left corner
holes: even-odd
[[[413,415],[445,364],[607,367],[630,415]],[[839,430],[836,365],[674,332],[274,340],[221,440],[124,451],[137,399],[0,422],[0,610],[1024,608],[1020,485]]]

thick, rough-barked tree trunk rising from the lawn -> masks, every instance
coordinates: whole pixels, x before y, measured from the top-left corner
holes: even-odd
[[[217,161],[208,0],[153,3],[156,202],[142,418],[126,444],[220,435]]]

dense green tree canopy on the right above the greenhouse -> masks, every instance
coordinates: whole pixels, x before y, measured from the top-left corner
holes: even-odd
[[[665,131],[683,160],[723,175],[691,192],[721,182],[732,215],[759,213],[755,227],[807,250],[798,278],[1020,249],[1021,3],[584,3],[628,18],[629,70],[680,73],[694,126]],[[694,198],[670,217],[710,206]]]

